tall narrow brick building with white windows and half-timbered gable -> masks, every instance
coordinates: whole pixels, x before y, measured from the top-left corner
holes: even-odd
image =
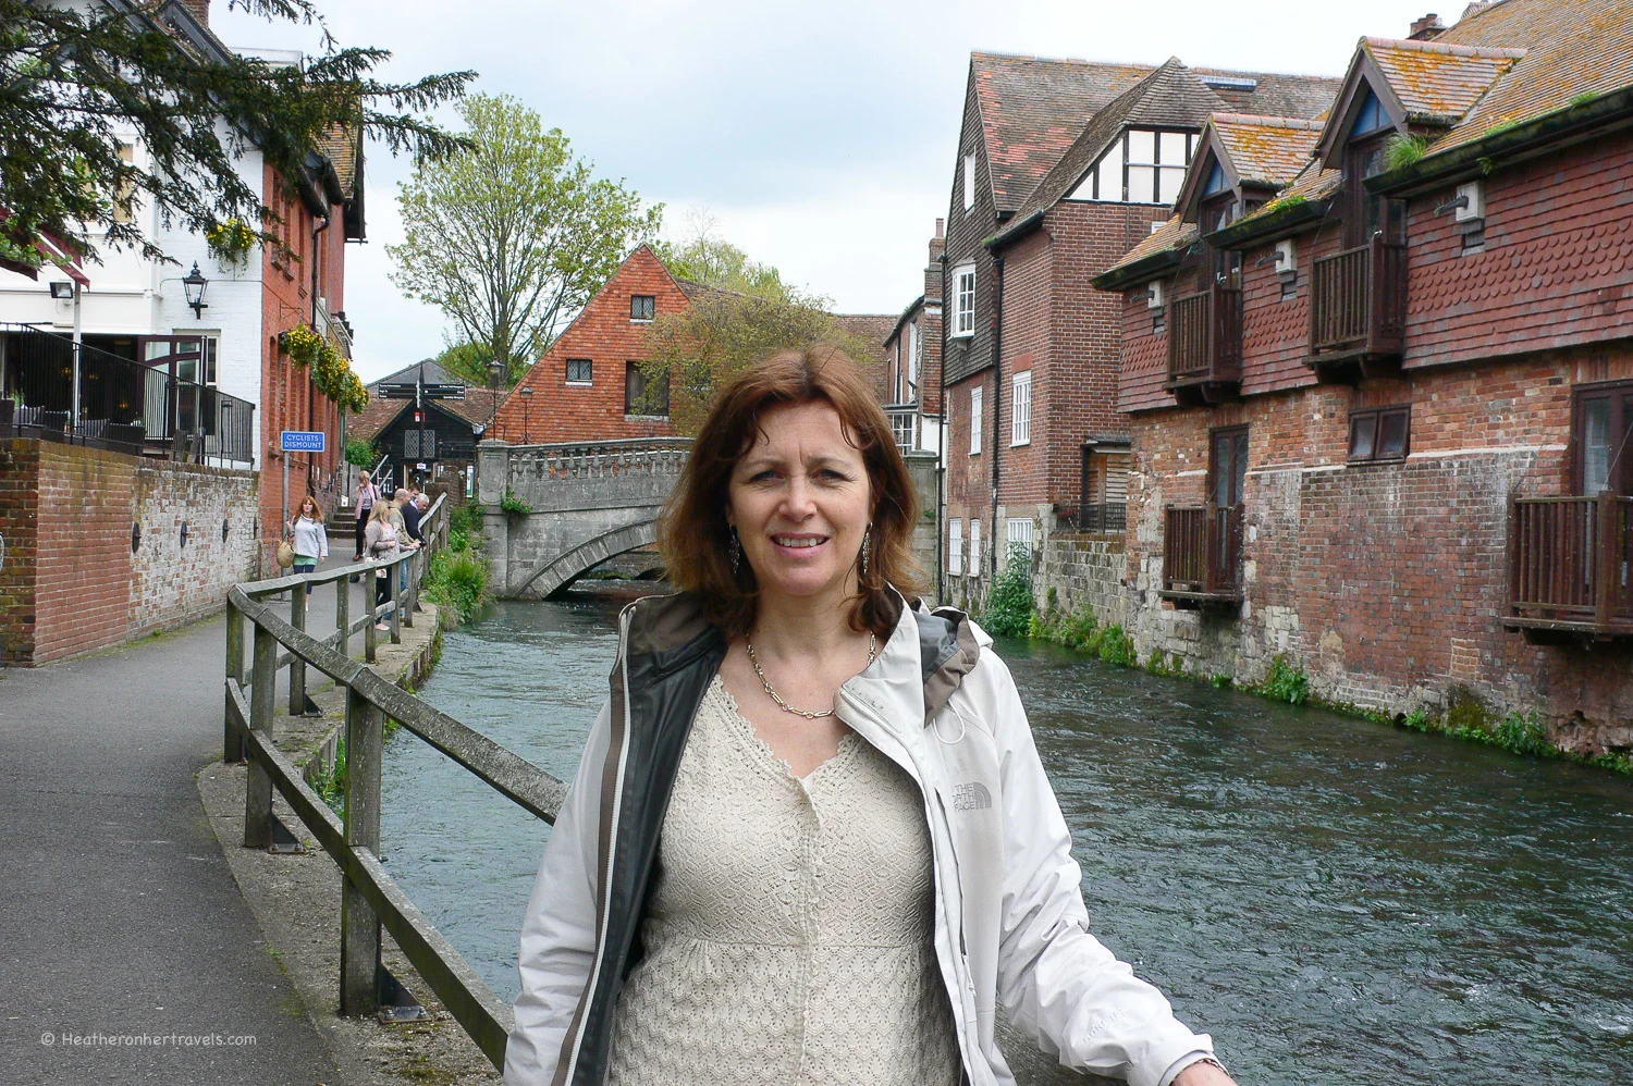
[[[1210,113],[1315,116],[1334,90],[1177,59],[972,56],[942,281],[946,594],[978,591],[963,578],[1008,542],[1120,526],[1120,305],[1089,281],[1169,217]]]

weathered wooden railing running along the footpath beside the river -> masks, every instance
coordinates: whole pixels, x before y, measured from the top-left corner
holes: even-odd
[[[389,617],[394,643],[400,640],[400,627],[413,621],[420,581],[431,555],[447,536],[446,496],[431,506],[423,523],[426,545],[416,552],[323,573],[237,585],[229,591],[224,758],[250,763],[245,787],[245,848],[271,844],[273,789],[276,789],[341,870],[340,1013],[374,1014],[379,1009],[377,968],[384,928],[483,1055],[493,1066],[503,1068],[505,1044],[511,1027],[509,1008],[493,995],[493,990],[380,866],[380,761],[385,720],[397,720],[477,779],[545,821],[555,821],[567,786],[367,666],[376,655],[377,617],[382,614]],[[397,593],[398,567],[408,568],[407,593]],[[348,580],[353,573],[363,573],[367,580],[376,570],[387,572],[392,596],[385,604],[371,608],[358,622],[351,622]],[[338,590],[336,630],[320,640],[305,630],[305,586],[328,583]],[[289,593],[287,617],[279,614],[269,599],[281,593]],[[359,627],[364,632],[364,661],[354,660],[349,653],[349,635]],[[322,671],[346,689],[345,815],[335,815],[273,743],[278,670],[283,666],[289,668],[291,710],[304,705],[309,668]]]

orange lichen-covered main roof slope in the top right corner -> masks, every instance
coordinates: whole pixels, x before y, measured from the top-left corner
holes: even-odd
[[[1633,85],[1633,5],[1626,0],[1501,0],[1471,13],[1435,44],[1524,49],[1429,154],[1493,127],[1564,109],[1581,95]]]

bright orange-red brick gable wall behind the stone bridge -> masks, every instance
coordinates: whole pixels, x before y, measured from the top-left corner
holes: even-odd
[[[625,364],[647,356],[650,328],[630,320],[635,294],[653,296],[660,315],[687,305],[663,263],[642,245],[511,390],[488,436],[513,444],[549,444],[668,434],[666,418],[624,413]],[[567,382],[570,358],[591,361],[588,385]],[[532,389],[532,397],[523,397],[521,389]]]

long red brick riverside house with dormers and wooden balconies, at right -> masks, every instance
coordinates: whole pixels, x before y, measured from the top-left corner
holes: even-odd
[[[1179,214],[1096,281],[1135,640],[1633,746],[1633,11],[1413,31],[1360,42],[1318,131],[1215,116]]]

